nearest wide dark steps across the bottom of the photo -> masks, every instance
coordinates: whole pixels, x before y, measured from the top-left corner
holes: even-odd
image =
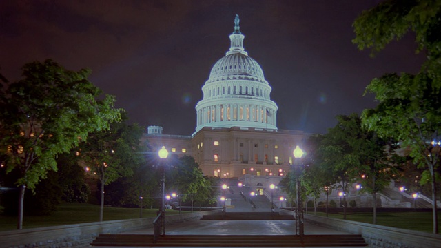
[[[115,247],[365,247],[360,235],[167,235],[100,234],[92,246]]]

